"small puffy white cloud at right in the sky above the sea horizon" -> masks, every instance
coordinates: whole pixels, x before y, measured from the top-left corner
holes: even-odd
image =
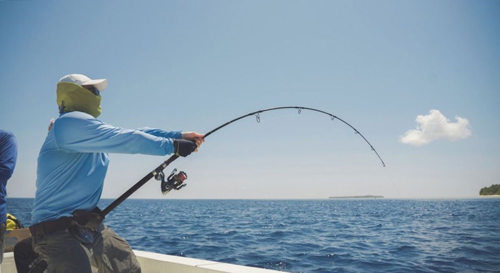
[[[426,116],[416,116],[416,130],[408,130],[399,137],[399,142],[420,146],[437,139],[453,141],[470,136],[468,120],[458,116],[455,116],[455,119],[456,122],[450,122],[439,110],[430,110]]]

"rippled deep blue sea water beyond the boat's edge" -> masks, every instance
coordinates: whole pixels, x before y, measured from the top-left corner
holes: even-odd
[[[26,226],[31,205],[7,199]],[[126,200],[105,224],[136,250],[286,272],[500,272],[499,198]]]

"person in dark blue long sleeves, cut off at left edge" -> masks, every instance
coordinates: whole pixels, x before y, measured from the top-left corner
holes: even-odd
[[[0,263],[3,261],[3,239],[7,222],[7,180],[12,176],[17,160],[17,141],[12,132],[0,130]]]

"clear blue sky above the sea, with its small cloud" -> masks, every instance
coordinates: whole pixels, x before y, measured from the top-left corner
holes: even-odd
[[[63,75],[108,79],[99,119],[206,133],[130,198],[477,197],[500,183],[496,0],[0,1],[0,128],[18,141],[8,197],[34,197]],[[166,157],[111,154],[103,198]]]

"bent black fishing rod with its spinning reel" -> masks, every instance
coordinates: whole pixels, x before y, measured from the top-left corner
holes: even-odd
[[[318,109],[314,109],[314,108],[309,108],[309,107],[303,107],[303,106],[273,107],[273,108],[267,108],[267,109],[262,109],[262,110],[258,110],[258,111],[255,111],[255,112],[251,112],[251,113],[239,116],[239,117],[237,117],[235,119],[232,119],[232,120],[230,120],[230,121],[228,121],[228,122],[226,122],[226,123],[224,123],[224,124],[222,124],[222,125],[214,128],[213,130],[211,130],[208,133],[206,133],[203,138],[206,138],[207,136],[209,136],[209,135],[213,134],[214,132],[218,131],[219,129],[222,129],[223,127],[225,127],[225,126],[227,126],[227,125],[229,125],[229,124],[231,124],[231,123],[233,123],[235,121],[238,121],[238,120],[240,120],[242,118],[245,118],[245,117],[249,117],[249,116],[253,116],[254,115],[256,117],[257,122],[260,122],[260,113],[267,112],[267,111],[273,111],[273,110],[279,110],[279,109],[297,109],[298,110],[298,114],[300,114],[300,112],[302,110],[310,110],[310,111],[315,111],[315,112],[326,114],[326,115],[330,116],[331,120],[335,120],[335,119],[340,120],[345,125],[347,125],[350,128],[352,128],[352,130],[354,130],[354,133],[356,135],[359,135],[360,137],[362,137],[364,139],[364,141],[366,143],[368,143],[368,145],[370,146],[371,150],[376,154],[376,156],[378,157],[378,159],[382,163],[382,167],[385,167],[385,163],[383,162],[383,160],[380,157],[380,155],[378,155],[378,153],[375,150],[375,148],[373,148],[373,146],[369,143],[369,141],[361,133],[359,133],[359,131],[356,128],[352,127],[349,123],[347,123],[343,119],[341,119],[341,118],[339,118],[339,117],[337,117],[337,116],[335,116],[333,114],[327,113],[327,112],[322,111],[322,110],[318,110]],[[170,163],[172,163],[174,160],[176,160],[178,157],[179,157],[178,154],[172,155],[167,160],[165,160],[163,163],[161,163],[158,167],[156,167],[154,170],[152,170],[147,175],[145,175],[141,180],[139,180],[137,183],[135,183],[135,185],[133,185],[130,189],[128,189],[125,193],[123,193],[120,197],[118,197],[111,204],[109,204],[104,210],[102,210],[102,212],[101,212],[102,217],[106,216],[110,211],[112,211],[119,204],[121,204],[121,202],[125,201],[125,199],[127,199],[130,195],[132,195],[135,191],[137,191],[140,187],[142,187],[142,185],[144,185],[147,181],[149,181],[153,177],[156,180],[161,180],[161,191],[162,191],[162,193],[164,195],[166,193],[168,193],[172,189],[179,190],[182,187],[184,187],[185,184],[183,184],[183,182],[184,182],[184,180],[187,179],[187,175],[184,172],[178,172],[177,173],[177,170],[174,169],[173,172],[167,177],[166,181],[165,181],[165,177],[164,177],[164,173],[163,173],[163,170],[168,165],[170,165]]]

